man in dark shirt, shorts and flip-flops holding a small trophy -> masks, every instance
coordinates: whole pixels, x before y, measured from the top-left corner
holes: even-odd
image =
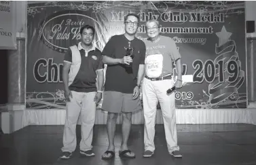
[[[103,49],[103,63],[107,64],[105,91],[102,109],[108,112],[107,133],[109,147],[103,159],[115,156],[114,136],[117,114],[122,112],[122,145],[119,156],[135,158],[128,149],[132,112],[141,110],[139,87],[144,74],[145,43],[136,39],[139,16],[128,14],[124,17],[125,34],[111,37]],[[132,49],[132,57],[126,56]]]

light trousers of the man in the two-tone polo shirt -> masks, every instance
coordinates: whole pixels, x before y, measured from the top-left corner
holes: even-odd
[[[92,149],[92,134],[95,122],[96,103],[94,97],[96,92],[80,93],[71,91],[73,98],[67,102],[66,120],[63,134],[62,151],[75,151],[77,136],[75,128],[77,120],[81,115],[81,141],[80,150]],[[81,112],[81,114],[80,114]]]

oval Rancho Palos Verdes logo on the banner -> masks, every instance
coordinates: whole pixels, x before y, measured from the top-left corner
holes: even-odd
[[[60,11],[41,22],[39,37],[54,51],[65,53],[69,47],[79,43],[80,28],[86,24],[93,26],[96,32],[102,34],[103,28],[100,24],[94,18],[86,16],[84,11]],[[98,42],[98,35],[95,35],[94,41]]]

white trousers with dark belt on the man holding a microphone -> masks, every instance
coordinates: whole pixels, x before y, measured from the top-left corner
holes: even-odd
[[[167,95],[166,91],[175,85],[173,79],[170,80],[149,80],[143,79],[143,111],[144,111],[144,145],[145,151],[155,151],[155,121],[156,106],[160,102],[162,116],[164,120],[164,131],[168,152],[179,151],[177,145],[177,128],[175,112],[175,92]]]

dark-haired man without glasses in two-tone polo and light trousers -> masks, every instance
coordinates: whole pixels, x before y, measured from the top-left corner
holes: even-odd
[[[103,61],[101,52],[92,45],[94,28],[81,28],[81,42],[69,47],[64,57],[62,78],[65,86],[67,112],[63,135],[62,159],[69,159],[77,145],[75,128],[81,114],[80,154],[94,156],[92,130],[96,104],[103,93]],[[98,76],[97,76],[98,75]],[[96,81],[97,78],[97,81]],[[96,87],[98,82],[98,89]]]

